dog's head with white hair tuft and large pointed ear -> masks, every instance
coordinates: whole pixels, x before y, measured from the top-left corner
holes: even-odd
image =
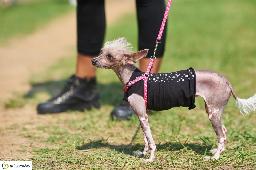
[[[148,49],[132,53],[132,46],[125,38],[107,41],[100,51],[100,55],[92,59],[92,65],[97,68],[116,68],[134,64],[148,53]]]

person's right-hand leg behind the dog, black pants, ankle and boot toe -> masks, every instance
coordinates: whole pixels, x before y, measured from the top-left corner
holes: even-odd
[[[139,50],[149,49],[147,58],[140,60],[140,70],[146,71],[153,55],[155,41],[165,12],[164,0],[136,0],[137,17],[139,26]],[[151,73],[158,73],[164,54],[166,29],[162,35],[162,42],[158,45],[156,51],[156,60]],[[134,114],[129,103],[121,102],[112,112],[111,116],[117,120],[128,119],[128,116]]]

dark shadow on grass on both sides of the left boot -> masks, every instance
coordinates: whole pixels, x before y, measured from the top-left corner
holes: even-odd
[[[36,93],[41,92],[48,93],[52,97],[55,97],[62,91],[66,83],[67,80],[58,80],[31,84],[32,88],[24,95],[24,98],[33,98]],[[123,100],[123,88],[124,87],[121,83],[98,83],[101,104],[117,105]]]

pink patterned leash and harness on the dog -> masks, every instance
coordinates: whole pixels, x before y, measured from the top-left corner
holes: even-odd
[[[169,10],[170,10],[170,7],[171,7],[171,4],[172,4],[172,0],[169,0],[168,1],[168,4],[167,4],[167,7],[166,7],[166,10],[165,10],[165,13],[164,13],[164,19],[162,21],[162,24],[161,24],[161,27],[160,27],[160,31],[158,33],[158,36],[156,38],[156,46],[155,46],[155,49],[154,49],[154,54],[153,56],[150,57],[150,62],[149,62],[149,65],[148,65],[148,68],[147,68],[147,71],[145,74],[143,74],[142,76],[134,79],[133,81],[129,81],[128,83],[126,83],[126,85],[124,86],[124,90],[123,92],[125,93],[125,91],[132,86],[132,84],[140,81],[140,80],[144,80],[144,100],[145,100],[145,106],[146,106],[146,110],[147,110],[147,106],[148,106],[148,91],[147,91],[147,86],[148,86],[148,76],[150,74],[150,71],[151,69],[153,68],[153,63],[156,59],[155,57],[155,54],[156,54],[156,50],[157,50],[157,47],[158,47],[158,44],[161,43],[161,37],[162,37],[162,34],[163,34],[163,31],[164,31],[164,26],[165,26],[165,23],[166,23],[166,20],[167,20],[167,16],[169,14]],[[154,59],[152,59],[154,58]]]

